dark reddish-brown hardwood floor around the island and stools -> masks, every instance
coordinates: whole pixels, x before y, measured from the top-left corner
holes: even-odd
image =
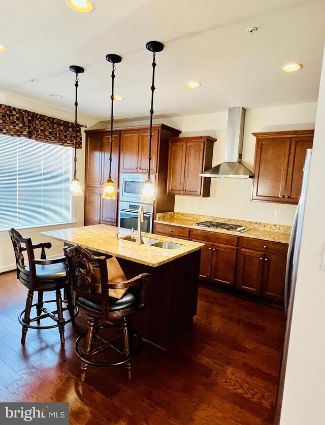
[[[79,381],[76,337],[86,320],[28,330],[20,343],[18,312],[26,288],[0,275],[0,401],[70,402],[70,424],[240,424],[273,422],[284,334],[282,310],[201,287],[193,330],[168,352],[145,344],[125,369],[89,368]]]

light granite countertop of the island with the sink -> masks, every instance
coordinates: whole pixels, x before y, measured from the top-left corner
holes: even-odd
[[[117,232],[120,233],[120,239],[116,239]],[[159,241],[176,242],[183,246],[176,249],[164,249],[150,245],[136,245],[135,242],[121,239],[123,236],[131,235],[130,230],[107,224],[65,228],[51,232],[44,232],[42,235],[50,236],[51,238],[59,241],[78,244],[84,248],[125,258],[135,261],[135,263],[145,264],[151,267],[157,267],[168,263],[175,258],[197,251],[204,246],[204,244],[198,242],[175,239],[161,235],[152,235],[144,232],[142,232],[143,237],[158,239]]]

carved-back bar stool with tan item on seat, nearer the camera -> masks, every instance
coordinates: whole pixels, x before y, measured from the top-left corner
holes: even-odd
[[[141,336],[131,327],[131,314],[145,308],[150,275],[141,274],[127,280],[115,257],[94,256],[79,245],[63,249],[68,260],[75,303],[89,317],[87,331],[79,336],[75,345],[76,354],[82,362],[81,381],[85,380],[89,365],[125,365],[127,379],[130,380],[131,360],[142,348]],[[107,324],[99,326],[99,320]],[[110,335],[111,339],[108,339],[106,334],[113,331],[113,338]],[[115,358],[112,359],[112,356]]]

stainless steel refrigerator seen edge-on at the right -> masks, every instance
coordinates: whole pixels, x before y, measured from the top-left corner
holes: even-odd
[[[295,289],[297,281],[297,272],[299,264],[299,253],[301,247],[301,236],[303,230],[303,221],[306,207],[306,195],[308,186],[308,177],[310,170],[312,149],[306,150],[306,158],[304,164],[304,174],[301,187],[301,195],[295,214],[294,224],[291,230],[288,255],[286,261],[285,287],[284,287],[284,311],[286,315],[286,326],[284,335],[284,344],[281,359],[281,371],[278,385],[275,422],[279,423],[281,415],[282,397],[284,389],[285,369],[288,355],[288,346],[290,338],[291,318],[293,314]]]

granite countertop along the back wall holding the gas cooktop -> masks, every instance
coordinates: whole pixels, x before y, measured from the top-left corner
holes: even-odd
[[[223,231],[221,229],[214,229],[210,227],[201,227],[196,223],[200,221],[219,221],[222,223],[240,224],[249,230],[239,232]],[[237,219],[228,219],[223,217],[213,217],[206,215],[186,214],[178,212],[168,212],[157,214],[155,223],[168,224],[181,227],[196,228],[208,232],[224,233],[228,235],[241,236],[243,238],[263,239],[266,241],[289,243],[291,226],[280,224],[259,223],[256,221],[245,221]]]

